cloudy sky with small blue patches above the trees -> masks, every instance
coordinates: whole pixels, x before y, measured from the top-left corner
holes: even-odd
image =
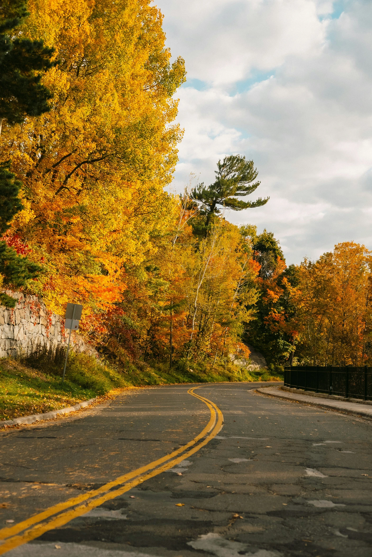
[[[372,1],[158,0],[182,56],[184,128],[172,188],[214,182],[225,155],[254,161],[254,209],[225,211],[280,241],[287,264],[336,243],[372,249]],[[256,196],[257,194],[257,196]]]

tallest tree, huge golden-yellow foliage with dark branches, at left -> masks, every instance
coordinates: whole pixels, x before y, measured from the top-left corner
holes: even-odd
[[[170,65],[149,0],[29,0],[28,10],[19,32],[53,45],[58,65],[43,78],[50,113],[3,124],[0,155],[25,184],[11,233],[45,267],[35,291],[57,312],[84,304],[89,330],[176,211],[163,188],[182,135],[170,123],[184,62]]]

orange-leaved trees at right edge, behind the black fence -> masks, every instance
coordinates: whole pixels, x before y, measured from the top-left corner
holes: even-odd
[[[372,360],[371,253],[342,242],[299,268],[298,359],[310,365],[364,365]]]

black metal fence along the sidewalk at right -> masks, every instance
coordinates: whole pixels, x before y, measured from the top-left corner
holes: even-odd
[[[286,387],[316,393],[372,400],[372,368],[367,366],[338,368],[332,365],[286,365],[284,384]]]

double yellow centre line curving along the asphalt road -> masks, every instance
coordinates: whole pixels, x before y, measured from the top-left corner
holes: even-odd
[[[58,503],[35,516],[31,516],[23,522],[3,528],[0,530],[0,540],[3,540],[2,542],[0,541],[0,555],[16,548],[18,545],[35,540],[35,538],[38,538],[48,530],[53,530],[67,524],[67,522],[70,522],[70,520],[75,519],[77,516],[84,515],[91,509],[95,509],[95,507],[102,505],[105,501],[115,499],[115,497],[131,490],[131,488],[139,483],[149,480],[149,478],[165,472],[165,470],[169,470],[169,468],[173,468],[173,466],[204,447],[204,445],[211,441],[221,430],[223,416],[221,410],[216,404],[211,402],[211,400],[200,397],[199,394],[194,393],[194,390],[198,388],[199,387],[194,387],[189,389],[188,394],[207,404],[211,412],[211,419],[203,431],[196,437],[183,447],[177,449],[177,451],[170,453],[170,455],[150,462],[148,465],[137,468],[137,470],[133,470],[133,472],[129,472],[124,476],[120,476],[116,478],[116,480],[106,483],[99,489],[88,491],[78,497],[73,497],[63,503]]]

